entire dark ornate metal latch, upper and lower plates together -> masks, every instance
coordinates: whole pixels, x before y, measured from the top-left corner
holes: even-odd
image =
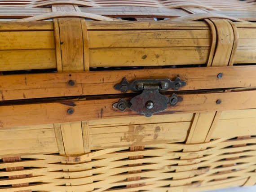
[[[179,77],[174,81],[170,79],[141,79],[134,80],[132,83],[123,78],[121,83],[115,85],[115,89],[121,92],[132,90],[134,92],[142,91],[142,93],[133,97],[130,101],[120,99],[119,102],[113,104],[113,107],[121,111],[130,108],[144,114],[146,117],[151,117],[154,113],[159,113],[168,108],[168,105],[175,106],[182,101],[182,98],[175,93],[167,97],[160,94],[159,91],[166,91],[170,88],[178,90],[185,85],[186,82],[181,81]]]

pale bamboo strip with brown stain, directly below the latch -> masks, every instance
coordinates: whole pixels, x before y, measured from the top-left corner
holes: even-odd
[[[139,146],[149,143],[183,142],[190,122],[128,125],[124,127],[102,127],[89,129],[91,148]],[[138,160],[134,160],[138,161]]]

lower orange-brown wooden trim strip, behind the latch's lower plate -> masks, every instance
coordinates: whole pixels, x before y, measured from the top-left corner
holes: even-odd
[[[179,96],[183,98],[181,103],[168,107],[159,114],[256,108],[256,91]],[[217,100],[221,100],[221,103],[217,104]],[[119,99],[104,99],[0,106],[0,128],[141,115],[131,109],[124,112],[114,109],[112,105],[118,101]],[[73,113],[68,113],[69,109],[72,109]]]

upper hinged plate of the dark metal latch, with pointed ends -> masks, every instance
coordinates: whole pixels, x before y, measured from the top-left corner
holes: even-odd
[[[124,77],[122,82],[115,85],[115,89],[126,93],[128,90],[133,92],[142,91],[144,86],[159,86],[159,91],[166,91],[168,89],[178,90],[179,88],[186,85],[185,81],[181,81],[177,77],[174,81],[170,79],[138,79],[134,80],[132,83],[129,83]]]

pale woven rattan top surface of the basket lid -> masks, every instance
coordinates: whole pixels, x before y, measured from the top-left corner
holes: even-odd
[[[190,13],[218,13],[255,21],[254,0],[15,0],[0,2],[0,17],[24,18],[50,13],[52,5],[76,5],[84,13],[111,17],[181,17]]]

